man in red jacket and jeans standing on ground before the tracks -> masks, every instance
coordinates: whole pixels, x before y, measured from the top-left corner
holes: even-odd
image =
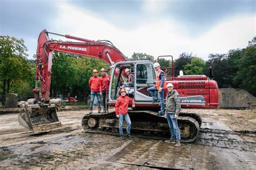
[[[117,102],[115,105],[115,109],[116,109],[116,116],[117,118],[119,118],[119,134],[120,134],[120,138],[125,139],[126,137],[133,137],[130,134],[130,130],[131,130],[131,119],[128,115],[128,105],[129,102],[132,102],[132,107],[135,107],[135,102],[128,96],[126,95],[126,90],[122,89],[121,90],[121,96],[117,98]],[[127,128],[126,128],[126,135],[123,136],[123,121],[125,119],[125,122],[127,124]]]

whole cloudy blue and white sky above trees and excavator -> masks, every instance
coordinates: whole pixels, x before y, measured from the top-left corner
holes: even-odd
[[[107,39],[129,57],[142,52],[176,59],[192,52],[207,60],[210,53],[245,48],[255,27],[255,1],[249,0],[0,0],[0,34],[23,38],[29,58],[44,29]]]

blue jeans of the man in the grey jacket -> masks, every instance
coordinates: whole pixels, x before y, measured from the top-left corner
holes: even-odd
[[[180,132],[177,119],[174,117],[175,114],[166,114],[166,118],[171,130],[171,139],[174,140],[175,136],[178,141],[180,141]]]

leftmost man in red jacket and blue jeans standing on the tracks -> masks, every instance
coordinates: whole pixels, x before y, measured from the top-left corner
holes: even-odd
[[[91,105],[90,105],[90,114],[92,114],[92,108],[94,103],[95,95],[97,96],[98,103],[98,113],[100,113],[100,92],[102,92],[102,83],[98,77],[98,70],[94,69],[92,71],[93,76],[89,80],[89,86],[91,88]]]

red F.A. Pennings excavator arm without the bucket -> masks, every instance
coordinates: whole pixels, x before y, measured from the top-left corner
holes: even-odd
[[[82,42],[63,42],[51,40],[49,33],[63,36],[65,38],[78,40]],[[50,98],[51,83],[51,67],[53,51],[75,54],[103,60],[109,65],[113,65],[117,61],[126,61],[125,55],[119,51],[110,41],[107,40],[88,40],[70,35],[62,35],[58,33],[43,30],[39,34],[37,45],[37,67],[36,67],[36,88],[33,89],[35,94],[35,102],[47,103]],[[41,90],[37,88],[38,80],[41,80]],[[39,92],[42,96],[39,96]]]

